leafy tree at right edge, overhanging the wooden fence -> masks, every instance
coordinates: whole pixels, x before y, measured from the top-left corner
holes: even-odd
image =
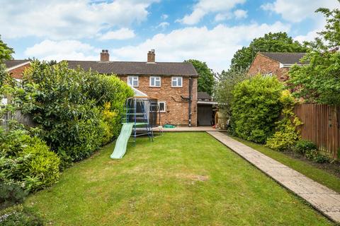
[[[340,10],[319,8],[327,19],[325,30],[319,32],[307,46],[312,50],[303,61],[305,66],[294,66],[290,70],[290,83],[294,95],[306,102],[340,105]]]

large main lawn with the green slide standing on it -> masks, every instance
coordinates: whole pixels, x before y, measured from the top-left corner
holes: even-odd
[[[25,205],[52,225],[331,225],[208,133],[114,143]]]

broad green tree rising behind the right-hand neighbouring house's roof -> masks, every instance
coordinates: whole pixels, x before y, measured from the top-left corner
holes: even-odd
[[[248,69],[257,52],[306,52],[307,48],[294,41],[286,32],[276,32],[255,38],[249,47],[237,50],[232,58],[231,68]]]

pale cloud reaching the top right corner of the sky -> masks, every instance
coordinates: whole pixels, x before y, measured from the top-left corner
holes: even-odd
[[[280,14],[290,22],[300,22],[305,18],[315,18],[314,11],[317,8],[339,8],[339,1],[336,0],[276,0],[273,3],[263,4],[261,8],[265,11],[272,11]]]

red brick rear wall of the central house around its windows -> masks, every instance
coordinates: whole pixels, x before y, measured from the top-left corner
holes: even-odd
[[[127,81],[128,76],[119,76]],[[161,87],[149,86],[150,76],[138,76],[139,86],[135,87],[149,97],[166,102],[166,112],[161,113],[161,123],[188,126],[188,102],[182,100],[189,96],[189,78],[183,77],[181,88],[171,87],[171,76],[161,76]],[[191,125],[197,126],[197,78],[193,78],[193,102],[191,103]]]

